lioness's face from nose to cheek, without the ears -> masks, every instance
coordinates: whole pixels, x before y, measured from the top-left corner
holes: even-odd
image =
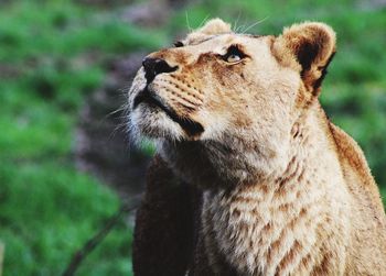
[[[224,33],[149,55],[131,92],[133,125],[150,137],[216,140],[287,121],[299,77],[278,64],[271,44]]]

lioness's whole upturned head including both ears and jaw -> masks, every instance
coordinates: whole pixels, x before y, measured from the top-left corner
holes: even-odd
[[[196,166],[183,156],[195,148],[192,159],[204,155],[236,181],[283,169],[291,130],[318,96],[334,51],[335,34],[322,23],[276,37],[211,20],[143,59],[129,92],[131,132],[156,139],[165,158],[186,167]]]

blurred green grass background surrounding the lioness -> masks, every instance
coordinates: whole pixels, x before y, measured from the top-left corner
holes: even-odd
[[[321,101],[363,147],[386,196],[384,1],[0,1],[4,275],[58,275],[130,197],[74,162],[79,113],[106,82],[108,60],[141,58],[215,16],[242,29],[259,22],[248,30],[259,34],[304,20],[333,26],[337,54]],[[122,220],[78,275],[131,275],[131,229]]]

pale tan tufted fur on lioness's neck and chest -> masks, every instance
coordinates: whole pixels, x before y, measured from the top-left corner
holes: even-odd
[[[308,275],[321,265],[326,274],[342,269],[331,256],[345,245],[346,191],[339,185],[337,157],[326,151],[332,145],[325,122],[315,112],[296,128],[281,175],[204,192],[203,234],[211,263],[225,258],[243,275]]]

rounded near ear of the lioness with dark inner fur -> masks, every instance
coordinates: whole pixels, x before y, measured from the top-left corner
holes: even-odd
[[[335,32],[326,24],[305,22],[286,27],[276,40],[277,57],[300,65],[301,78],[310,90],[318,90],[335,54]],[[294,58],[293,58],[294,57]],[[293,65],[293,64],[292,64]]]

